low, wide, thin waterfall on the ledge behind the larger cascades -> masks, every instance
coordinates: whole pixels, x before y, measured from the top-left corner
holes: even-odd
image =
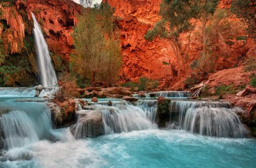
[[[163,91],[163,92],[152,92],[146,93],[146,97],[189,97],[190,92],[188,91]]]

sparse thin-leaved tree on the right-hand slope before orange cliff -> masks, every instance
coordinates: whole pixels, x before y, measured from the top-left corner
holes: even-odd
[[[214,15],[209,17],[206,27],[205,55],[201,54],[199,60],[192,64],[192,68],[199,69],[203,74],[217,70],[219,56],[227,55],[226,51],[220,50],[220,47],[229,39],[235,39],[244,29],[240,21],[230,20],[230,16],[232,16],[231,13],[226,9],[218,9]],[[203,43],[201,31],[196,34],[196,40]]]

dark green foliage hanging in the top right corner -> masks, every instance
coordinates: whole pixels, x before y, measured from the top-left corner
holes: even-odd
[[[233,0],[231,11],[244,22],[247,32],[256,38],[256,0]]]

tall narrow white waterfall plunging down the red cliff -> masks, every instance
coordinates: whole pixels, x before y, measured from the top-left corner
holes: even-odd
[[[33,32],[37,46],[37,59],[39,62],[40,80],[44,87],[52,87],[57,82],[55,70],[51,61],[48,46],[43,37],[43,33],[39,27],[39,24],[37,23],[37,19],[34,14],[31,13],[31,15],[35,26]]]

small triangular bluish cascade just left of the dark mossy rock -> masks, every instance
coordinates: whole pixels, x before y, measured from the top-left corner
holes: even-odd
[[[148,120],[155,123],[157,114],[157,100],[139,100],[135,104],[136,107],[141,108]]]

